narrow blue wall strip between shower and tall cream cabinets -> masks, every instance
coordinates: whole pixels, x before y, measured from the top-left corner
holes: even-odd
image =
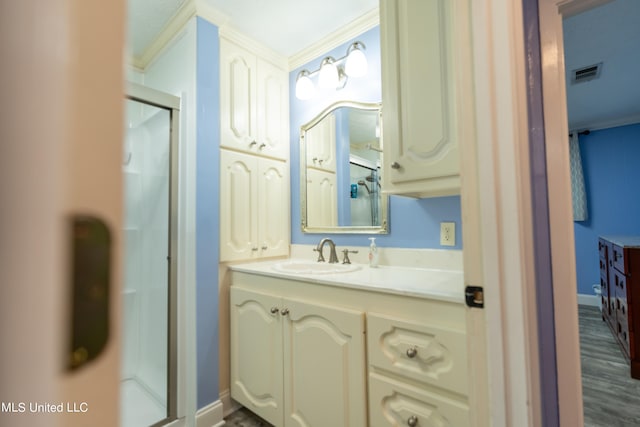
[[[220,44],[218,28],[197,19],[196,340],[198,409],[218,400],[220,218]]]

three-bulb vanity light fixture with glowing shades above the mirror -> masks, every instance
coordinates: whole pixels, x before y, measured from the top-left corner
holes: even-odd
[[[319,87],[336,90],[342,89],[347,84],[348,77],[364,76],[367,73],[364,49],[366,49],[364,43],[353,42],[342,58],[334,59],[332,56],[327,56],[320,62],[319,69],[300,71],[296,77],[296,98],[306,100],[315,96],[316,88],[311,80],[311,76],[315,74],[318,74]]]

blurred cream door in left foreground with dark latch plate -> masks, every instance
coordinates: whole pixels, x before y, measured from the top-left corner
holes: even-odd
[[[17,411],[0,412],[1,425],[119,422],[124,12],[122,2],[2,6],[0,51],[12,66],[0,85],[12,102],[0,126],[0,396]],[[92,288],[108,302],[108,335],[95,359],[71,371],[67,266],[77,214],[110,232],[108,286]],[[76,362],[94,355],[74,350]]]

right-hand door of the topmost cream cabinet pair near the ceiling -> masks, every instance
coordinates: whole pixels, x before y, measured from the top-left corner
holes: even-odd
[[[289,158],[289,80],[284,70],[258,60],[258,151]]]

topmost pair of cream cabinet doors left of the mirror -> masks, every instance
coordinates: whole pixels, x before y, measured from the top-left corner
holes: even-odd
[[[223,147],[278,159],[289,157],[289,81],[286,70],[220,40]]]

